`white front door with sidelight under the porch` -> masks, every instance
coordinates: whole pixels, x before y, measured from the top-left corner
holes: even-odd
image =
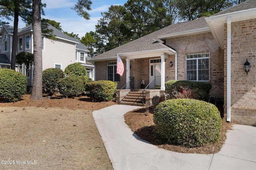
[[[149,88],[161,88],[161,59],[150,60],[149,68]]]

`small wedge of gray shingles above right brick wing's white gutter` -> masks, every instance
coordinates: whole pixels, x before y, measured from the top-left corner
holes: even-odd
[[[224,11],[218,12],[217,14],[214,14],[212,16],[219,16],[222,14],[228,14],[231,12],[238,12],[238,11],[243,11],[243,10],[249,10],[252,8],[256,8],[256,0],[246,0],[242,2],[241,4],[238,4],[236,6],[232,6]]]

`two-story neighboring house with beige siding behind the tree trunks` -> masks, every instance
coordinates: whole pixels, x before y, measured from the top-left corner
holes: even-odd
[[[69,37],[52,25],[49,25],[48,29],[52,29],[52,33],[56,39],[49,39],[42,34],[43,70],[46,68],[61,68],[64,71],[69,64],[80,63],[86,67],[88,76],[94,80],[94,65],[87,62],[89,50],[78,39]],[[0,29],[0,68],[10,68],[12,37],[13,27],[2,25]],[[18,29],[18,44],[16,48],[18,48],[17,53],[22,51],[33,53],[32,25]],[[27,85],[32,86],[33,66],[26,71],[24,64],[17,64],[16,70],[26,75],[28,79]]]

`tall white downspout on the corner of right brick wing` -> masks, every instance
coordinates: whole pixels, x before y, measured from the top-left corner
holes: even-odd
[[[231,16],[227,17],[227,121],[231,122]]]

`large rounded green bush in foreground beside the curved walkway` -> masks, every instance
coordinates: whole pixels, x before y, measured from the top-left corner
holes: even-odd
[[[220,139],[220,112],[208,102],[171,99],[154,110],[156,134],[163,143],[198,147]]]

